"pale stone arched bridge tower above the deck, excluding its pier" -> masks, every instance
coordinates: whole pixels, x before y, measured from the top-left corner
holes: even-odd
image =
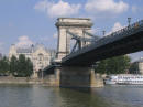
[[[89,35],[84,34],[84,31],[91,32],[92,22],[87,18],[58,18],[56,26],[58,30],[57,61],[61,62],[70,51],[72,36],[67,34],[67,30],[79,36],[88,38]]]

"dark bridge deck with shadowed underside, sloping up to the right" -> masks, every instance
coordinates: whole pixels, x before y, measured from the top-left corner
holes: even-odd
[[[143,20],[113,32],[62,60],[66,66],[89,66],[95,62],[143,50]]]

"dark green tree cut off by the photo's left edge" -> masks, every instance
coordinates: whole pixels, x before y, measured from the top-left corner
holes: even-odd
[[[9,60],[4,56],[0,60],[0,74],[8,74],[9,73]]]

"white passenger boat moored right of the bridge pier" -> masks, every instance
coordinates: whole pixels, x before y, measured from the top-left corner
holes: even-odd
[[[121,85],[143,85],[143,75],[133,75],[133,74],[119,74],[119,75],[109,75],[105,79],[106,84],[121,84]]]

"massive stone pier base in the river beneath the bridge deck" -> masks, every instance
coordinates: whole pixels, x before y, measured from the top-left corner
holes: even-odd
[[[55,68],[56,83],[61,87],[102,87],[103,81],[94,68],[82,66],[62,66]]]

